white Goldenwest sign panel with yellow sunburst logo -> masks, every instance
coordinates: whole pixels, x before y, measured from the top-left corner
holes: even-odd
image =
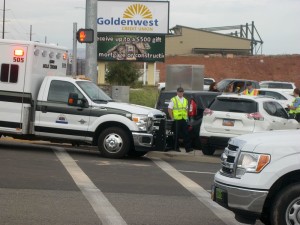
[[[97,32],[169,32],[168,1],[98,1],[97,7]]]

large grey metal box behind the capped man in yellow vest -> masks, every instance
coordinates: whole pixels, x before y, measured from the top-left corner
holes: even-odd
[[[178,87],[203,91],[204,65],[168,65],[166,75],[166,91],[176,90]]]

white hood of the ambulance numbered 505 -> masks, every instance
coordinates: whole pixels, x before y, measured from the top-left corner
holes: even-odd
[[[103,106],[103,104],[97,104]],[[150,108],[147,106],[141,106],[141,105],[134,105],[134,104],[129,104],[129,103],[124,103],[124,102],[108,102],[105,104],[105,107],[108,108],[113,108],[113,109],[121,109],[124,111],[127,111],[129,113],[135,113],[135,114],[153,114],[153,115],[165,115],[165,113],[154,109]]]

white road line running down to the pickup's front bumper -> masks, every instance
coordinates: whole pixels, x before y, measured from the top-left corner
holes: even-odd
[[[207,208],[209,208],[217,217],[219,217],[227,225],[241,225],[242,223],[237,222],[234,219],[234,214],[221,207],[217,203],[210,199],[210,194],[207,193],[200,185],[184,176],[169,163],[159,159],[151,158],[151,160],[159,166],[163,171],[165,171],[169,176],[180,183],[184,188],[191,192],[195,197],[197,197]]]

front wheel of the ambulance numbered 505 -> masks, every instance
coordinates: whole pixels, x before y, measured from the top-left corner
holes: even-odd
[[[130,148],[129,135],[121,128],[109,127],[102,131],[98,139],[98,149],[107,158],[120,159]]]

